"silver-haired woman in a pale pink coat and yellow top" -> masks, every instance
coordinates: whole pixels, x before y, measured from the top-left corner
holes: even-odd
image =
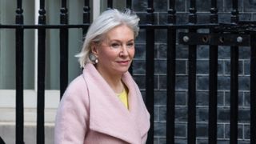
[[[91,24],[77,55],[83,72],[58,107],[55,143],[146,142],[150,114],[128,72],[138,21],[130,10],[106,10]]]

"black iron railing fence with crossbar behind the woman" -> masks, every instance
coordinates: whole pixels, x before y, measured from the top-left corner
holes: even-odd
[[[166,94],[166,143],[174,143],[175,134],[175,65],[177,42],[187,45],[189,49],[188,72],[188,127],[187,143],[196,143],[196,58],[197,46],[210,46],[209,72],[209,132],[208,143],[217,143],[217,92],[218,92],[218,46],[230,47],[230,144],[238,143],[238,49],[239,46],[250,46],[250,143],[256,143],[256,31],[254,22],[239,21],[238,0],[232,1],[230,23],[218,22],[217,0],[210,1],[210,23],[198,24],[196,0],[190,0],[189,23],[176,24],[175,0],[169,1],[166,25],[154,23],[154,1],[148,0],[146,24],[140,25],[146,30],[146,106],[153,115],[147,143],[154,143],[154,32],[158,29],[167,30],[167,94]],[[23,23],[22,0],[17,1],[16,23],[0,25],[0,29],[16,30],[16,143],[24,143],[24,111],[23,111],[23,38],[25,29],[38,29],[38,108],[37,108],[37,143],[45,143],[44,103],[45,103],[45,62],[46,62],[46,30],[59,29],[60,37],[60,91],[61,95],[68,83],[68,30],[82,29],[86,33],[90,25],[90,3],[85,0],[83,7],[83,23],[68,24],[66,0],[62,0],[59,25],[46,24],[45,1],[40,0],[38,25]],[[108,0],[107,6],[112,7],[113,1]],[[132,8],[132,1],[126,1],[126,7]],[[199,29],[207,29],[208,33],[198,33]],[[178,33],[178,30],[186,32]],[[178,33],[178,34],[177,34]]]

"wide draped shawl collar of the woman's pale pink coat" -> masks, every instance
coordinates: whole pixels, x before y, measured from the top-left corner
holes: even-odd
[[[129,89],[129,110],[94,65],[86,64],[83,74],[90,98],[90,129],[129,143],[142,143],[142,137],[150,128],[150,114],[141,104],[142,96],[130,74],[127,72],[122,76]]]

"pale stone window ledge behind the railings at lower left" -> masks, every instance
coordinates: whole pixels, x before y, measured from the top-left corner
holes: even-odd
[[[58,90],[46,90],[45,143],[54,143],[54,119],[59,103]],[[15,91],[0,90],[0,137],[6,144],[15,144]],[[24,90],[24,142],[36,143],[37,92]]]

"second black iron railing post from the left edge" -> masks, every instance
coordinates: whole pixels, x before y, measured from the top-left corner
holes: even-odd
[[[40,0],[38,25],[46,24],[45,1]],[[46,70],[46,28],[38,28],[38,109],[37,109],[37,144],[45,143],[45,72]]]

